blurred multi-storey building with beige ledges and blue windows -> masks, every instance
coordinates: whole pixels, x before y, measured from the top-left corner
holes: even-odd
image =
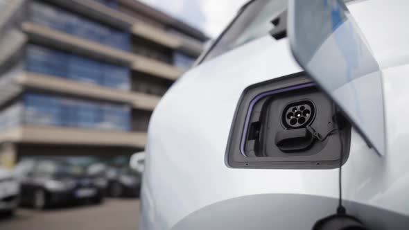
[[[136,0],[0,0],[0,161],[143,150],[206,40]]]

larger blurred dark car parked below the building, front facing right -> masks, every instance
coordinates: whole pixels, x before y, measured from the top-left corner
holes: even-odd
[[[21,161],[16,171],[21,179],[23,205],[44,209],[55,204],[103,202],[106,183],[62,159]]]

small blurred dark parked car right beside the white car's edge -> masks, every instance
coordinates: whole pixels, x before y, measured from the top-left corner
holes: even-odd
[[[132,168],[107,170],[107,195],[111,197],[138,197],[141,189],[141,174]]]

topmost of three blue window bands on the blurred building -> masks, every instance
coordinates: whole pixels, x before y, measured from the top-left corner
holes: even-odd
[[[131,35],[71,12],[33,1],[31,21],[64,33],[89,39],[107,46],[130,51]]]

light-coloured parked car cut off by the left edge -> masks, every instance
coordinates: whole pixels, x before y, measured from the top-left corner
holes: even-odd
[[[12,215],[19,204],[19,182],[0,167],[0,214]]]

